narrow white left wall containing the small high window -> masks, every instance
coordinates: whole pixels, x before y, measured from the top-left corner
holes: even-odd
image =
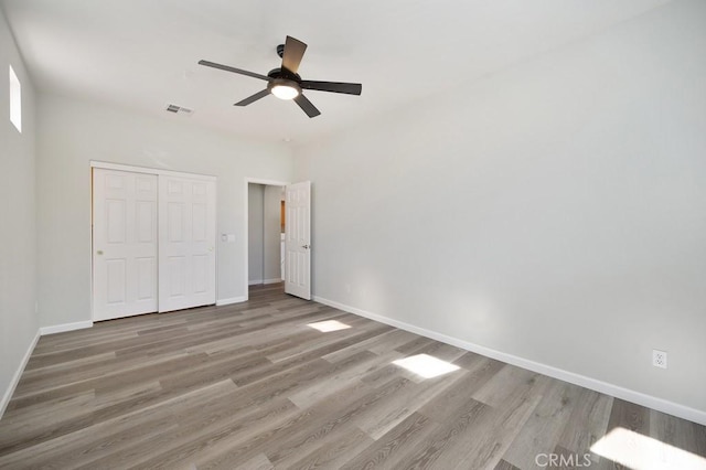
[[[9,65],[22,85],[22,133],[9,119]],[[0,416],[39,333],[34,106],[32,83],[0,10]]]

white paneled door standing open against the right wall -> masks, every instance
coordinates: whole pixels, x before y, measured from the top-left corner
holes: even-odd
[[[311,182],[290,184],[285,197],[285,292],[311,299]]]

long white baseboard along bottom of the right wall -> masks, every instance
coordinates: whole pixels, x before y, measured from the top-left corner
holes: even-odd
[[[513,354],[503,353],[490,348],[481,346],[468,341],[459,340],[458,338],[449,337],[436,331],[427,330],[425,328],[416,327],[410,323],[405,323],[399,320],[394,320],[387,317],[383,317],[377,313],[368,312],[355,307],[346,306],[333,300],[324,299],[322,297],[314,296],[313,300],[323,303],[339,310],[346,311],[349,313],[365,317],[371,320],[378,321],[381,323],[389,324],[391,327],[399,328],[400,330],[409,331],[411,333],[420,334],[432,340],[441,341],[442,343],[451,344],[457,348],[464,349],[467,351],[474,352],[477,354],[484,355],[486,357],[502,361],[507,364],[515,365],[517,367],[526,368],[539,374],[547,375],[549,377],[558,378],[559,381],[568,382],[570,384],[579,385],[586,388],[590,388],[596,392],[600,392],[606,395],[610,395],[620,399],[635,403],[638,405],[646,406],[648,408],[656,409],[657,412],[666,413],[668,415],[676,416],[678,418],[688,419],[689,421],[697,423],[706,426],[706,412],[695,409],[688,406],[680,405],[674,402],[670,402],[663,398],[657,398],[652,395],[646,395],[641,392],[637,392],[630,388],[624,388],[619,385],[610,384],[599,381],[597,378],[587,377],[585,375],[576,374],[574,372],[557,368],[547,364],[531,361],[524,357],[520,357]]]

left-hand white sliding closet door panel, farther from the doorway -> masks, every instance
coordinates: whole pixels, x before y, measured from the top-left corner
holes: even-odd
[[[157,175],[93,170],[94,321],[157,311]]]

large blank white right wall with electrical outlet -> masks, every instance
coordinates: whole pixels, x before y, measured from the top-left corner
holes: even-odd
[[[673,2],[297,149],[314,295],[706,416],[704,18]]]

